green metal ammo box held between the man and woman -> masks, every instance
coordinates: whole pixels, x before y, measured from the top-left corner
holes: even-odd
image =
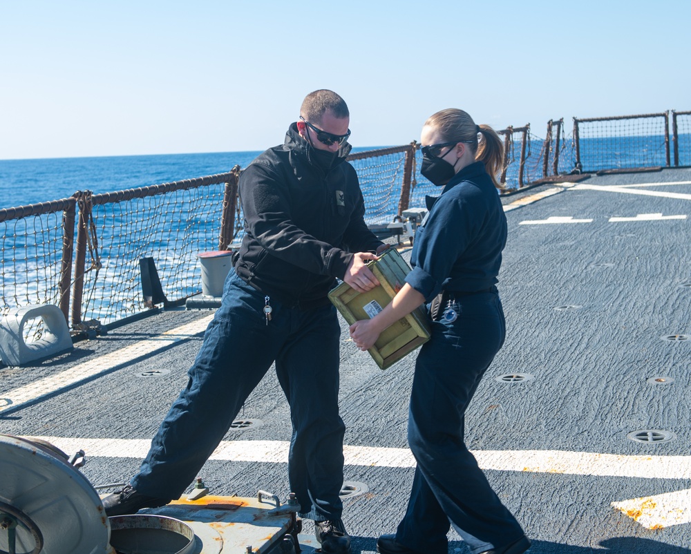
[[[330,300],[349,325],[372,318],[381,312],[406,283],[406,275],[410,273],[410,266],[395,248],[385,251],[379,260],[369,262],[368,267],[379,280],[379,286],[368,292],[359,293],[347,283],[341,283],[329,293]],[[429,338],[427,313],[423,306],[419,306],[384,329],[368,352],[377,365],[385,370],[426,343]]]

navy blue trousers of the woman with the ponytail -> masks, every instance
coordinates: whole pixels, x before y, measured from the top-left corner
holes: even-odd
[[[410,395],[408,443],[417,468],[396,538],[429,554],[447,553],[451,525],[473,553],[523,535],[464,444],[464,412],[504,343],[502,304],[487,292],[462,296],[457,305],[456,321],[432,322]]]

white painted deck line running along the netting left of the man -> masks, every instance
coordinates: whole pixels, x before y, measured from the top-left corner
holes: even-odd
[[[64,372],[46,377],[45,379],[33,381],[29,385],[8,390],[7,392],[0,392],[0,412],[8,410],[9,408],[17,408],[18,405],[35,401],[41,397],[46,397],[48,394],[54,394],[70,385],[107,372],[113,369],[113,367],[117,367],[129,361],[134,361],[142,356],[153,354],[185,338],[190,338],[191,336],[203,332],[213,317],[213,314],[211,314],[210,316],[181,325],[180,327],[176,327],[160,335],[146,338],[144,341],[139,341],[138,343],[126,346],[120,350],[115,350],[115,352],[100,356],[97,359],[80,363],[74,367],[70,367],[70,369]]]

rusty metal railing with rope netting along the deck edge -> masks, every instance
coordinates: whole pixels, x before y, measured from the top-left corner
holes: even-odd
[[[544,138],[509,126],[500,175],[507,193],[565,173],[691,165],[691,112],[549,120]],[[439,189],[418,175],[419,144],[354,153],[370,224],[424,206]],[[0,210],[1,313],[29,304],[60,307],[73,332],[149,309],[140,260],[153,258],[165,303],[200,289],[201,251],[226,250],[243,235],[240,166],[227,173]]]

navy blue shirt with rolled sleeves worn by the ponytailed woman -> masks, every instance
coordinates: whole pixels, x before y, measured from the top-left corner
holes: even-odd
[[[427,197],[429,213],[415,233],[406,282],[427,301],[444,291],[476,292],[498,283],[507,218],[482,162],[474,162]]]

